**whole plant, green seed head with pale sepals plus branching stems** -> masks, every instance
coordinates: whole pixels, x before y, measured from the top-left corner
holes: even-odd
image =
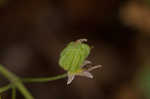
[[[87,42],[87,39],[79,39],[67,45],[67,47],[61,52],[59,59],[59,65],[64,70],[66,70],[67,73],[54,77],[21,78],[0,64],[0,74],[8,79],[8,81],[10,81],[8,85],[0,88],[0,93],[12,89],[12,99],[16,99],[16,90],[18,89],[18,91],[22,93],[25,99],[35,99],[27,90],[24,83],[49,82],[68,76],[67,84],[70,84],[75,76],[85,76],[88,78],[93,78],[90,71],[101,67],[101,65],[85,69],[85,66],[87,64],[91,64],[90,61],[86,60],[90,53],[91,47],[89,47],[89,45],[85,44],[84,42]]]

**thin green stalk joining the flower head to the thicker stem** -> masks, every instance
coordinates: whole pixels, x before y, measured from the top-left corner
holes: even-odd
[[[63,79],[67,77],[67,74],[62,74],[62,75],[57,75],[54,77],[41,77],[41,78],[24,78],[22,79],[22,82],[26,82],[26,83],[34,83],[34,82],[49,82],[49,81],[54,81],[54,80],[58,80],[58,79]]]

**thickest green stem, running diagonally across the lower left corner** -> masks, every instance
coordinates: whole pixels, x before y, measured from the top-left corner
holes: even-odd
[[[27,88],[22,84],[21,80],[13,73],[0,65],[0,73],[13,84],[26,99],[34,99]]]

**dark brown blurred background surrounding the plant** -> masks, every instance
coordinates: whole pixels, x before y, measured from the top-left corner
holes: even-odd
[[[20,77],[64,73],[59,54],[80,38],[103,67],[69,86],[26,84],[35,99],[150,99],[150,0],[0,0],[0,64]]]

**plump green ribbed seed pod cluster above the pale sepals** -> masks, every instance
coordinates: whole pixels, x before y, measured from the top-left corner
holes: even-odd
[[[90,53],[90,47],[82,42],[71,42],[61,52],[59,65],[71,73],[81,69]]]

